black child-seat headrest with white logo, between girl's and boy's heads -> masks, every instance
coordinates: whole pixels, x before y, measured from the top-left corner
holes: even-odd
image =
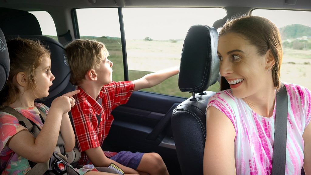
[[[17,36],[6,36],[7,40],[12,40]],[[40,40],[51,52],[51,72],[55,76],[53,85],[50,87],[49,96],[47,99],[55,97],[67,87],[70,80],[70,67],[66,59],[66,51],[63,45],[58,41],[38,35],[19,35],[20,38],[27,38],[31,40]]]

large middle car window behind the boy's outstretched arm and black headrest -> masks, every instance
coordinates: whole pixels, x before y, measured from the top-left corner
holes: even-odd
[[[223,18],[222,8],[122,8],[126,38],[129,79],[135,80],[147,73],[179,66],[183,40],[190,26],[212,26]],[[163,83],[143,89],[174,96],[189,97],[180,92],[178,75]],[[208,90],[218,91],[219,83]]]

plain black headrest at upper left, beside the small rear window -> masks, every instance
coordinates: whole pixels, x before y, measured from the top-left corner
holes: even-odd
[[[22,10],[0,8],[0,28],[5,35],[42,35],[37,18]]]

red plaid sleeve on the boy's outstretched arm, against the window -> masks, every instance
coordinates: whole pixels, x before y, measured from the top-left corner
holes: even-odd
[[[125,104],[132,95],[135,84],[133,81],[120,81],[111,82],[107,86],[104,86],[104,90],[109,96],[111,104],[111,110],[115,107]]]

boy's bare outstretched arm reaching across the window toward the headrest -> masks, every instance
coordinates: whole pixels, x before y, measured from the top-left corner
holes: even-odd
[[[161,70],[158,72],[147,74],[142,78],[134,80],[134,84],[135,84],[134,91],[138,91],[143,88],[153,87],[163,82],[167,78],[178,74],[178,71],[179,71],[178,67],[173,67],[170,69],[165,69],[165,70]]]

